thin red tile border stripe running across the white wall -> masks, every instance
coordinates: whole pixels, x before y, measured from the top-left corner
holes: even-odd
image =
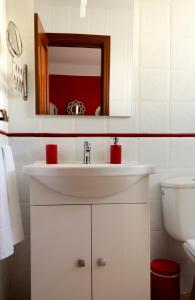
[[[127,138],[162,138],[162,137],[195,137],[195,133],[36,133],[36,132],[10,132],[0,130],[0,134],[8,137],[50,137],[50,138],[76,138],[76,137],[127,137]]]

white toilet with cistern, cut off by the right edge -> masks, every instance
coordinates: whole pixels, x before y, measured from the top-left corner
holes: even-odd
[[[161,183],[161,191],[165,229],[183,243],[195,266],[195,177],[169,178]],[[195,280],[192,299],[195,300]]]

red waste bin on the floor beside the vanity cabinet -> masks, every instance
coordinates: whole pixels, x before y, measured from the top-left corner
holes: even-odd
[[[151,262],[151,300],[180,300],[180,266],[155,259]]]

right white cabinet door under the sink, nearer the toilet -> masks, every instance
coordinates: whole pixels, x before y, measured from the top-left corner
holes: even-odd
[[[93,300],[149,300],[147,205],[92,206]]]

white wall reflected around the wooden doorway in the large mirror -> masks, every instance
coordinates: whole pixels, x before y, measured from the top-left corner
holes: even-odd
[[[109,94],[104,97],[109,98],[109,107],[107,113],[102,110],[101,115],[131,115],[133,2],[90,0],[81,17],[80,0],[34,0],[35,12],[46,32],[110,37]],[[74,97],[72,100],[79,101]]]

